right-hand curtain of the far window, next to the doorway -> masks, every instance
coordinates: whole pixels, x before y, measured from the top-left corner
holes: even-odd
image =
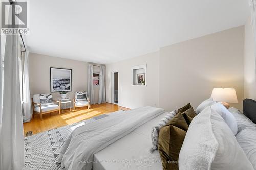
[[[99,104],[106,102],[105,95],[105,66],[99,66]]]

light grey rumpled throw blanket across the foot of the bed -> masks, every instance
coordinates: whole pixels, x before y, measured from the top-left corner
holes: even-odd
[[[147,106],[78,127],[63,145],[58,162],[66,170],[91,170],[95,153],[162,113],[163,109]]]

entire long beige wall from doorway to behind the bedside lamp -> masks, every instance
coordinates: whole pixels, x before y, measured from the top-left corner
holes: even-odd
[[[131,67],[147,64],[146,87],[132,86]],[[158,52],[106,65],[106,98],[111,102],[110,73],[119,72],[119,105],[159,106],[167,111],[188,102],[196,108],[214,87],[236,88],[242,108],[244,26],[160,48]]]

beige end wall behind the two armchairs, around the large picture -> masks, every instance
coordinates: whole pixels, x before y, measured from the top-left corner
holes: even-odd
[[[87,62],[51,57],[29,53],[30,93],[50,93],[50,67],[72,69],[72,91],[68,97],[73,100],[76,91],[87,91]],[[53,92],[53,99],[60,98],[58,92]]]

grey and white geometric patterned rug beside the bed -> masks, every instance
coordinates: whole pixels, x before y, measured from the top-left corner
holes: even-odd
[[[72,125],[52,129],[24,138],[26,169],[55,169],[62,146],[70,133],[77,127],[108,117],[102,114]]]

